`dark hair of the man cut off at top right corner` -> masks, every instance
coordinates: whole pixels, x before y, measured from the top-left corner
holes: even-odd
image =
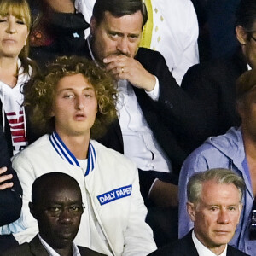
[[[256,1],[241,0],[236,9],[236,26],[242,26],[247,32],[252,32],[255,21]]]

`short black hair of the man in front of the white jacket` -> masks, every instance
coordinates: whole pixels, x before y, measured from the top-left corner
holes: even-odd
[[[32,184],[33,205],[38,205],[42,201],[45,192],[55,188],[56,183],[61,183],[64,187],[78,190],[80,197],[82,198],[79,183],[73,177],[63,172],[49,172],[37,177]]]

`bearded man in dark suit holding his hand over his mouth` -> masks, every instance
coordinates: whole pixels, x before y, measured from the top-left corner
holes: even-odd
[[[177,177],[183,160],[201,143],[188,144],[187,139],[206,132],[205,112],[178,86],[159,52],[139,48],[147,18],[141,0],[96,0],[84,55],[118,83],[119,119],[100,142],[137,163],[141,192],[150,208],[170,209],[177,207]],[[169,214],[156,218],[165,219],[162,227],[167,235],[170,229],[177,231],[177,211],[172,217]],[[176,227],[167,229],[168,221]],[[165,231],[160,230],[161,237]]]

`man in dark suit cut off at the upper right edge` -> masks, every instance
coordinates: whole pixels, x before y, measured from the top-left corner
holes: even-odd
[[[241,0],[236,11],[236,38],[240,46],[235,55],[197,64],[183,77],[182,88],[207,110],[207,137],[241,125],[236,112],[236,79],[248,67],[256,67],[255,17],[256,2]]]

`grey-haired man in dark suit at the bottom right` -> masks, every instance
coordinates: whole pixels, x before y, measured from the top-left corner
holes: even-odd
[[[188,183],[187,211],[194,230],[150,256],[245,256],[228,242],[241,215],[245,183],[227,169],[197,172]],[[214,254],[212,254],[214,253]]]

